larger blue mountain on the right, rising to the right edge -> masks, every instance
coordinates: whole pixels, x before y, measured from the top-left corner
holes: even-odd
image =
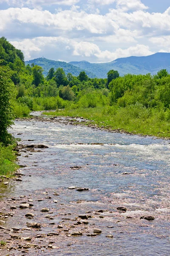
[[[106,78],[109,70],[117,70],[121,76],[131,74],[156,74],[161,69],[170,72],[170,53],[158,52],[144,57],[118,58],[108,63],[90,63],[88,61],[72,61],[69,64],[86,72],[92,72],[99,78]]]

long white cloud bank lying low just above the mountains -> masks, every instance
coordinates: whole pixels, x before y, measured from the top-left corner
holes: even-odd
[[[108,50],[102,51],[96,44],[63,37],[24,39],[23,41],[12,41],[11,44],[18,49],[21,49],[24,52],[26,59],[31,59],[33,52],[40,52],[40,54],[43,55],[43,52],[47,51],[48,48],[57,53],[58,58],[62,58],[63,55],[67,55],[67,52],[70,51],[72,56],[81,56],[83,58],[92,56],[95,58],[96,62],[107,62],[113,61],[116,58],[128,57],[131,55],[143,56],[154,53],[150,51],[148,46],[140,44],[127,49],[118,48],[113,52]]]

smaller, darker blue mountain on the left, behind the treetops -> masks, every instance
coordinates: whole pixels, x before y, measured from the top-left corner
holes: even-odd
[[[71,73],[73,76],[79,76],[79,73],[81,71],[84,71],[83,69],[73,66],[72,64],[66,63],[64,61],[52,61],[46,58],[37,58],[31,61],[25,61],[26,65],[27,64],[31,65],[32,63],[34,63],[35,65],[41,66],[44,70],[43,73],[45,76],[47,76],[47,73],[51,69],[51,67],[54,67],[54,70],[56,70],[58,67],[62,67],[66,75],[68,73]],[[91,73],[91,71],[86,71],[86,73],[90,78],[96,77],[96,75]]]

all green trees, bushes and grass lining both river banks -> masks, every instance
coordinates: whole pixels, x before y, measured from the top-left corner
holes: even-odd
[[[51,68],[44,77],[42,67],[25,65],[23,53],[0,38],[1,175],[14,168],[14,153],[6,154],[15,143],[7,130],[12,120],[55,109],[46,114],[83,116],[99,127],[170,137],[170,74],[160,70],[154,76],[120,77],[110,70],[107,79],[91,79],[85,71],[66,76],[62,68]]]

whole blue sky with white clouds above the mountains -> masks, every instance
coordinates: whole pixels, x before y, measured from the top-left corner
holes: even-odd
[[[25,60],[110,62],[170,52],[170,0],[0,0],[0,37]]]

